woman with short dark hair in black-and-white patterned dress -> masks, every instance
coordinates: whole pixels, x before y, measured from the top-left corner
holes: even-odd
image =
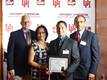
[[[36,39],[32,41],[28,63],[32,66],[32,80],[48,80],[48,31],[45,26],[40,25],[36,29]]]

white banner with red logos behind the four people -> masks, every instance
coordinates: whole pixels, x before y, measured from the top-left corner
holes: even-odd
[[[95,0],[2,0],[3,11],[3,49],[7,49],[10,32],[21,28],[20,20],[23,14],[31,17],[35,30],[40,24],[47,27],[47,41],[57,37],[55,26],[59,20],[68,25],[68,35],[75,31],[74,17],[84,15],[87,27],[95,31]]]

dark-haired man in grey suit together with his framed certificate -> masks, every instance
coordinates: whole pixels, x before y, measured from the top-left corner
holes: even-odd
[[[80,61],[77,42],[66,36],[65,21],[57,22],[56,31],[58,37],[50,42],[48,49],[50,80],[65,80],[64,77],[72,80],[73,72]]]

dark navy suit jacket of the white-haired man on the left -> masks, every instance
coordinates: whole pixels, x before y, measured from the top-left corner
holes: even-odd
[[[31,40],[35,32],[30,30]],[[7,69],[15,70],[15,74],[22,76],[28,72],[28,45],[22,29],[11,32],[7,48]]]

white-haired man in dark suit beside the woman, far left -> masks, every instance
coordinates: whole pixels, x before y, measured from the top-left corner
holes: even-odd
[[[28,73],[28,47],[35,36],[35,32],[28,29],[30,26],[28,15],[22,16],[21,25],[21,29],[10,34],[7,48],[7,69],[10,76],[16,75],[26,78]]]

